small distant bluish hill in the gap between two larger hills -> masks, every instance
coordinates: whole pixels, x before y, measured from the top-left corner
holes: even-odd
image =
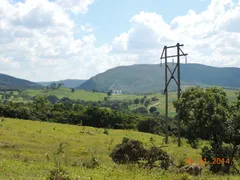
[[[43,86],[50,85],[52,83],[63,83],[63,87],[67,88],[75,88],[77,86],[80,86],[82,83],[84,83],[86,80],[80,80],[80,79],[65,79],[60,81],[51,81],[51,82],[37,82],[38,84],[41,84]]]

